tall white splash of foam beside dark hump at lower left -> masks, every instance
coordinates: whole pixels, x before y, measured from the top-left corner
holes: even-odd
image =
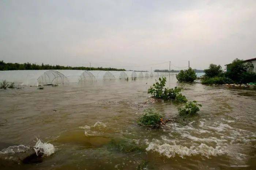
[[[50,143],[43,143],[41,142],[40,139],[37,139],[37,143],[34,146],[35,153],[38,154],[43,154],[45,156],[50,156],[54,153],[55,148],[53,144]]]

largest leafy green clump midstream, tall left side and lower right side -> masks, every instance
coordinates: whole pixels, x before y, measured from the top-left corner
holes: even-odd
[[[166,77],[159,78],[159,82],[156,81],[152,87],[148,89],[148,93],[150,93],[155,98],[161,98],[163,100],[175,100],[177,102],[187,102],[185,96],[183,96],[181,92],[181,87],[175,87],[172,89],[164,88],[166,83]]]

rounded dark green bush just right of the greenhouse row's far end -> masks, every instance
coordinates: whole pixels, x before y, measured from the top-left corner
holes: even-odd
[[[196,80],[196,72],[189,68],[188,70],[180,70],[180,73],[176,75],[178,82],[193,82]]]

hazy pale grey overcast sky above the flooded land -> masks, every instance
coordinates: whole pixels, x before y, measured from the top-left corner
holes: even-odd
[[[256,57],[255,0],[0,0],[0,60],[127,70]]]

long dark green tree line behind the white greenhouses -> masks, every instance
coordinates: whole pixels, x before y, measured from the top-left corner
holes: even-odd
[[[5,63],[3,60],[0,61],[0,70],[105,70],[105,71],[125,71],[125,69],[116,69],[111,67],[71,67],[71,66],[60,66],[60,65],[49,65],[44,64],[37,65],[35,63]]]

